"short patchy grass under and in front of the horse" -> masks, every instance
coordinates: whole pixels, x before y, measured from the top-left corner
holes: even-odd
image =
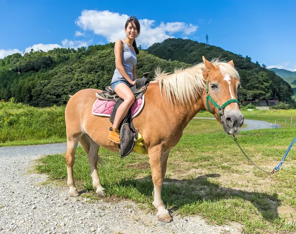
[[[279,113],[271,112],[271,116]],[[266,115],[262,114],[261,120],[272,118]],[[245,131],[236,137],[255,163],[271,171],[295,133],[296,128],[287,127]],[[118,154],[102,148],[99,154],[105,167],[98,173],[107,194],[154,209],[148,156],[133,153],[120,159]],[[179,144],[171,150],[162,199],[177,214],[201,215],[210,224],[236,222],[244,233],[295,233],[295,162],[294,147],[279,172],[264,174],[248,164],[233,138],[222,131],[217,121],[193,119]],[[37,170],[67,186],[64,155],[41,158]],[[79,189],[89,190],[86,195],[93,196],[88,159],[81,148],[76,151],[74,179]]]

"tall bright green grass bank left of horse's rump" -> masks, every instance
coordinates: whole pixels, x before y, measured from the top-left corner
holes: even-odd
[[[36,108],[0,101],[0,146],[66,141],[65,106]]]

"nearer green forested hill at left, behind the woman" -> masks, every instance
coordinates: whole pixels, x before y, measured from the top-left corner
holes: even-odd
[[[169,63],[140,50],[137,77],[153,72],[157,66],[172,72],[175,67],[190,65],[178,61]],[[24,56],[12,54],[0,59],[0,99],[14,97],[33,106],[66,104],[68,95],[80,89],[103,89],[110,85],[114,69],[114,43],[77,50],[32,50]]]

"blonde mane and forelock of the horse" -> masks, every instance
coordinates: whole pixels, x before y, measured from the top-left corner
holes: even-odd
[[[239,79],[236,69],[226,62],[219,59],[213,59],[211,63],[219,67],[223,77]],[[159,81],[161,96],[163,96],[162,88],[166,98],[171,102],[178,102],[183,106],[192,105],[192,99],[197,100],[201,97],[205,89],[205,79],[203,78],[203,63],[194,65],[186,69],[176,69],[173,74],[161,72],[159,68],[155,71],[155,81]]]

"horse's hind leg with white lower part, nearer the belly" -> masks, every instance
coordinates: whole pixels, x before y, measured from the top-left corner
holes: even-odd
[[[95,143],[88,135],[82,136],[82,141],[85,141],[85,140],[89,142],[88,162],[90,165],[90,174],[92,177],[93,187],[97,195],[105,196],[106,195],[105,189],[101,185],[100,178],[98,176],[98,168],[97,168],[98,160],[100,165],[102,165],[103,163],[101,157],[98,155],[100,146],[97,143]],[[80,144],[82,143],[82,141],[80,141]],[[82,144],[81,146],[83,147]]]

